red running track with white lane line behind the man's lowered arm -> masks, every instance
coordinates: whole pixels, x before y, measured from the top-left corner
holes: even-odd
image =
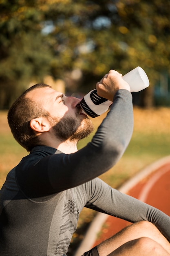
[[[127,194],[160,209],[170,216],[170,162],[160,166],[150,175],[144,177]],[[126,220],[108,216],[100,235],[92,247],[130,224]]]

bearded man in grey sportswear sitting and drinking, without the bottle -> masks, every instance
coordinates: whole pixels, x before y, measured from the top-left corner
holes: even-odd
[[[96,84],[113,105],[79,151],[77,141],[93,130],[79,99],[38,84],[11,106],[9,126],[30,154],[0,192],[1,256],[66,255],[84,206],[135,222],[84,255],[170,256],[170,218],[97,178],[120,159],[132,135],[132,96],[121,76],[110,70]]]

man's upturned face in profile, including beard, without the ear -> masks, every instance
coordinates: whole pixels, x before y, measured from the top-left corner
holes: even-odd
[[[39,102],[50,113],[48,118],[55,136],[62,141],[83,139],[93,131],[91,120],[82,112],[80,99],[66,97],[52,88],[38,88],[28,97]]]

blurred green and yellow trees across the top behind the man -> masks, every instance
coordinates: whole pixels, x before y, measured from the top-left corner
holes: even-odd
[[[169,13],[166,0],[0,0],[1,105],[46,74],[88,92],[108,70],[139,65],[150,80],[141,104],[152,106],[155,82],[170,73]]]

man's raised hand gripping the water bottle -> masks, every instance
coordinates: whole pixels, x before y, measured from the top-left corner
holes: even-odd
[[[100,97],[113,101],[115,93],[120,89],[130,91],[130,86],[122,79],[122,74],[115,70],[110,70],[102,80],[96,84],[97,94]]]

